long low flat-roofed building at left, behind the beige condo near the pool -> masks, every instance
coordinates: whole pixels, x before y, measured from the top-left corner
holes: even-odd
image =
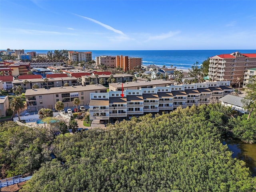
[[[42,76],[41,76],[42,77]],[[38,88],[50,89],[54,87],[62,87],[66,83],[69,86],[77,86],[78,80],[75,77],[56,77],[56,78],[48,78],[48,82],[43,78],[35,78],[35,79],[27,79],[29,83],[24,84],[26,79],[16,79],[12,82],[13,86],[22,86],[24,90],[32,89],[34,84],[38,85]]]

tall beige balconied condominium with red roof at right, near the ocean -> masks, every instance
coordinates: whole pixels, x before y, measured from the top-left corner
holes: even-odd
[[[210,57],[209,79],[216,81],[228,80],[232,87],[236,87],[238,79],[243,82],[244,73],[256,67],[256,54],[221,54]]]

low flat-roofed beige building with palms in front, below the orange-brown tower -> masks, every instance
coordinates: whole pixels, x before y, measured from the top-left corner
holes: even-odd
[[[108,78],[110,78],[110,76],[113,77],[114,82],[121,82],[121,83],[130,82],[134,77],[133,75],[130,75],[130,74],[98,75],[98,78],[96,75],[86,75],[86,76],[82,76],[82,84],[86,85],[86,84],[90,84],[91,82],[93,82],[94,84],[100,84],[100,79],[103,79],[102,85],[107,85]]]

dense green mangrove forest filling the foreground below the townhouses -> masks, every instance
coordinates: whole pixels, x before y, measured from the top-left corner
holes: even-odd
[[[256,141],[256,116],[246,116],[192,106],[56,138],[8,122],[0,127],[1,174],[34,173],[21,192],[252,192],[256,178],[221,143],[226,135]]]

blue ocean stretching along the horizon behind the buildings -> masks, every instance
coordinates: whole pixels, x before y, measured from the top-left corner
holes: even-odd
[[[26,52],[36,51],[36,53],[47,53],[51,50],[24,50]],[[129,57],[142,58],[143,65],[154,64],[157,66],[166,66],[180,69],[188,69],[194,63],[202,64],[208,57],[219,54],[230,54],[233,52],[240,53],[256,53],[256,50],[75,50],[75,51],[91,51],[92,59],[96,56],[116,56],[123,55]],[[54,52],[54,50],[52,50]]]

